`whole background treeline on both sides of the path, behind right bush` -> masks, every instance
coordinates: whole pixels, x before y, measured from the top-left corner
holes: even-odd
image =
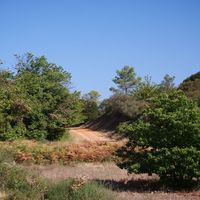
[[[113,129],[120,122],[137,120],[152,97],[177,90],[173,76],[166,75],[156,84],[151,77],[142,79],[133,67],[125,66],[113,78],[113,95],[100,102],[95,90],[84,95],[71,92],[71,74],[44,56],[27,53],[16,60],[14,72],[0,71],[0,140],[60,139],[67,135],[66,127],[95,119],[106,119],[100,126],[108,129],[112,119]],[[198,105],[199,83],[197,73],[178,88]]]

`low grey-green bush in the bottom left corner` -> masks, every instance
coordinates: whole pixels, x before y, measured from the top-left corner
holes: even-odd
[[[10,164],[0,164],[0,188],[6,190],[8,199],[43,199],[47,189],[45,181]]]

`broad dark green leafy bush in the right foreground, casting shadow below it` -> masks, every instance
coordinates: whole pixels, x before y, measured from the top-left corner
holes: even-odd
[[[118,152],[120,167],[161,179],[200,177],[200,109],[180,91],[152,98],[142,117],[119,131],[129,139]]]

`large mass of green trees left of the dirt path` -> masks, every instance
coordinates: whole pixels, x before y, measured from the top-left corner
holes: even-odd
[[[83,122],[80,94],[69,92],[71,74],[61,66],[26,54],[16,70],[0,72],[0,140],[55,140]]]

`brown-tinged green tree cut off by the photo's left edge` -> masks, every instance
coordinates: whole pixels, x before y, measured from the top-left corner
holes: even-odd
[[[24,116],[29,113],[28,103],[14,84],[10,71],[0,71],[0,140],[24,137]]]

